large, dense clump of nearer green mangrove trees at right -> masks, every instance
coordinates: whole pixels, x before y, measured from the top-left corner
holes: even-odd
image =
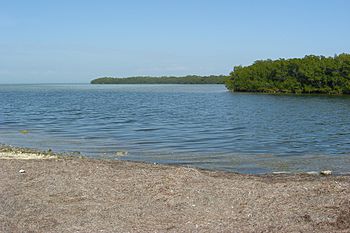
[[[350,54],[256,61],[234,67],[225,84],[242,92],[350,94]]]

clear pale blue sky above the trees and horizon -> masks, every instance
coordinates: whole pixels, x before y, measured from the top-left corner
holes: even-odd
[[[0,0],[0,83],[228,74],[350,53],[348,0]]]

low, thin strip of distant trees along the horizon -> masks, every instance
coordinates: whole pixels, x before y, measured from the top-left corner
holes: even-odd
[[[224,84],[226,78],[227,76],[225,75],[187,75],[183,77],[136,76],[128,78],[103,77],[92,80],[91,84]]]

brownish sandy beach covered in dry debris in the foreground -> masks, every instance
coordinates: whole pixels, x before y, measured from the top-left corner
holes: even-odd
[[[350,232],[349,176],[0,158],[0,232]]]

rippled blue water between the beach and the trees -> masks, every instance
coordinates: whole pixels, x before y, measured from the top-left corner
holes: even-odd
[[[27,134],[20,131],[27,130]],[[0,85],[0,143],[242,173],[350,172],[350,97],[223,85]]]

